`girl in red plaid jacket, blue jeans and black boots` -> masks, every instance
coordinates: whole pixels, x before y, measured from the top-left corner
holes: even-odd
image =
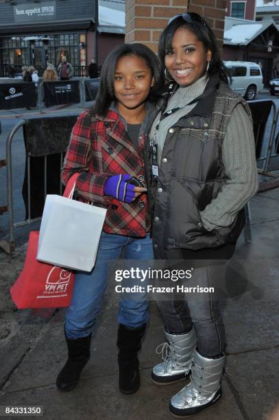
[[[78,196],[108,211],[95,268],[90,273],[77,272],[66,312],[69,358],[56,382],[62,391],[75,387],[90,357],[90,337],[106,289],[108,260],[120,255],[123,259],[153,259],[144,143],[149,120],[156,115],[147,99],[162,80],[158,59],[150,49],[141,44],[119,45],[104,62],[94,109],[82,113],[73,127],[62,181],[80,172]],[[131,177],[142,186],[130,183]],[[137,352],[148,319],[147,306],[144,296],[120,302],[119,388],[126,394],[140,386]]]

